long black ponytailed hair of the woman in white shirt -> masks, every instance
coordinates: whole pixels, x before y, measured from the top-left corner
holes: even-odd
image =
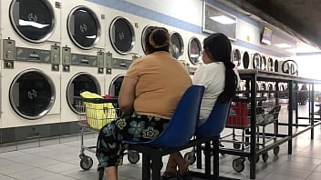
[[[231,42],[226,35],[216,33],[206,37],[203,45],[204,50],[211,56],[212,60],[223,62],[225,65],[225,86],[217,101],[230,101],[235,95],[237,87],[237,76],[233,71],[235,65],[231,61]]]

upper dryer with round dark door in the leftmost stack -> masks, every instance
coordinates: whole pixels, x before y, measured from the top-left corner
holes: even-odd
[[[60,0],[6,0],[0,7],[3,39],[28,49],[51,50],[60,44]]]

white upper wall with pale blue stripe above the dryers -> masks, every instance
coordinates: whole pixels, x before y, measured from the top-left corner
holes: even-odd
[[[202,33],[202,0],[89,0],[100,5],[106,5],[131,15],[138,15],[159,22],[165,25],[178,27],[199,35]],[[241,46],[246,49],[252,49],[253,52],[259,52],[264,55],[273,55],[274,57],[293,56],[294,53],[287,52],[274,45],[263,45],[260,43],[263,31],[262,24],[255,22],[246,15],[234,11],[217,1],[209,1],[210,4],[217,6],[227,13],[237,16],[238,25],[236,37],[233,45]],[[179,9],[179,10],[178,10]],[[272,28],[272,27],[270,27]],[[272,43],[287,43],[295,47],[295,40],[290,35],[285,35],[274,30]],[[250,51],[251,52],[251,51]],[[253,53],[251,52],[251,53]]]

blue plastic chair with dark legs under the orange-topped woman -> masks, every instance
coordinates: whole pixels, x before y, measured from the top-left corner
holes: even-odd
[[[147,142],[126,142],[129,144],[129,150],[142,153],[143,180],[150,179],[150,168],[152,179],[161,179],[161,157],[179,151],[177,147],[186,145],[191,140],[199,117],[203,93],[202,85],[189,87],[182,95],[169,125],[157,138]]]

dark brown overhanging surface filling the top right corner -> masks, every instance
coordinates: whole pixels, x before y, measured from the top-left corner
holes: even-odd
[[[317,49],[321,48],[320,0],[219,1],[249,17],[259,18],[262,22],[268,22],[282,29],[287,34],[295,36],[303,44],[312,45]]]

